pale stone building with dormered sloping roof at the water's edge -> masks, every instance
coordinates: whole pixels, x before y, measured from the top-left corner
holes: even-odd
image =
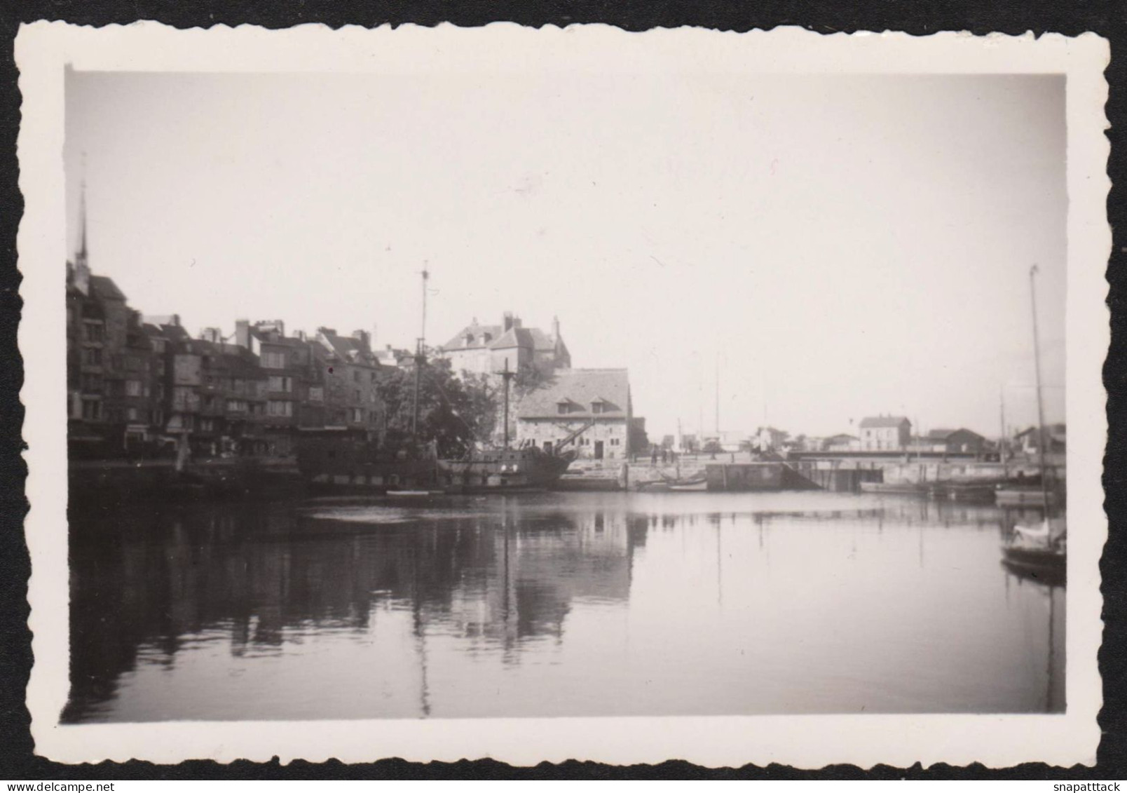
[[[628,459],[632,424],[625,369],[560,369],[521,399],[516,442],[545,451],[559,450],[565,442],[564,450],[574,448],[580,459]]]

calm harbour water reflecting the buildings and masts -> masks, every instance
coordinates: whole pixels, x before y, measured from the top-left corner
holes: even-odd
[[[994,508],[832,493],[152,508],[71,525],[71,722],[1064,707]]]

